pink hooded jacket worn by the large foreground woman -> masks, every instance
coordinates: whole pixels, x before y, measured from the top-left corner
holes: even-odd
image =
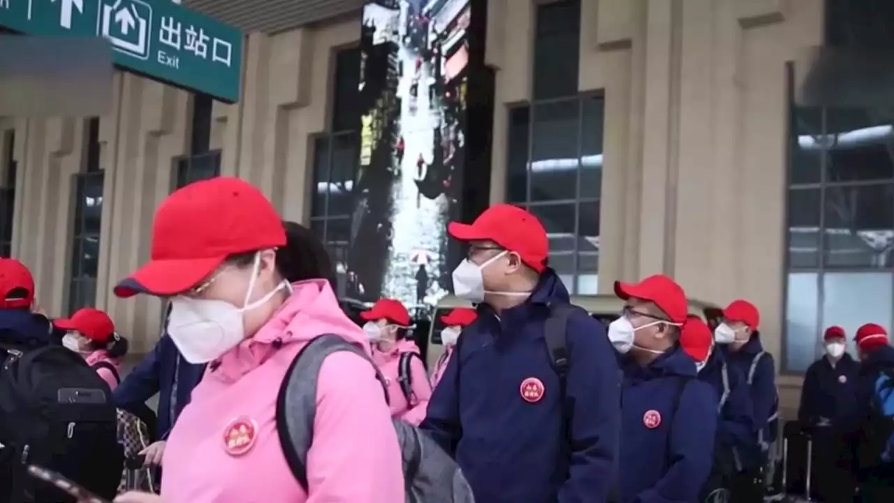
[[[254,337],[208,365],[164,448],[164,503],[403,503],[401,451],[382,385],[356,354],[332,354],[320,369],[308,492],[291,473],[276,397],[300,349],[322,334],[367,346],[328,282],[296,283]],[[238,448],[228,446],[225,438],[246,425]]]

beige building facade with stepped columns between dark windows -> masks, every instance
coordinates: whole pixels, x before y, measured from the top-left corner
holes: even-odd
[[[496,75],[492,202],[505,199],[507,106],[531,98],[535,6],[488,3],[485,61]],[[605,107],[599,291],[610,293],[616,279],[664,272],[692,297],[750,299],[777,367],[785,325],[786,64],[821,44],[822,12],[821,0],[581,4],[578,89],[603,93]],[[359,14],[250,33],[240,102],[214,104],[210,144],[222,150],[221,174],[257,184],[285,218],[308,221],[312,138],[329,124],[333,55],[357,45],[359,34]],[[105,184],[96,305],[145,352],[158,337],[161,303],[116,299],[112,286],[148,258],[153,211],[171,191],[173,159],[189,153],[193,98],[117,72],[111,99],[99,121]],[[0,119],[0,131],[15,131],[12,254],[30,266],[52,315],[68,305],[72,175],[85,166],[87,129],[80,119]],[[780,378],[787,405],[799,382]]]

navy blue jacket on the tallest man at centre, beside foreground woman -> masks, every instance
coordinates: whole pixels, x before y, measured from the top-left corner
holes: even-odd
[[[583,312],[573,315],[567,330],[573,415],[565,420],[544,320],[549,303],[568,302],[565,286],[548,269],[527,302],[500,318],[479,305],[478,320],[463,330],[434,388],[422,428],[455,456],[478,501],[592,503],[609,494],[620,372],[605,326]],[[544,384],[536,403],[521,396],[528,378]]]

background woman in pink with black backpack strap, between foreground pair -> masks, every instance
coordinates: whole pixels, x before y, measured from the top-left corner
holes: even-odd
[[[393,299],[379,299],[373,309],[361,312],[360,318],[367,320],[363,331],[372,345],[373,361],[388,385],[392,417],[418,426],[426,419],[432,387],[419,347],[406,338],[410,326],[407,308]],[[401,360],[407,364],[404,372]]]

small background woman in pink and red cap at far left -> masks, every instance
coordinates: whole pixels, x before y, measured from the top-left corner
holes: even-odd
[[[72,318],[54,320],[55,328],[67,330],[62,344],[80,353],[93,367],[109,388],[117,388],[121,382],[121,359],[127,354],[127,339],[114,331],[114,321],[108,314],[92,307],[85,307],[72,314]]]

